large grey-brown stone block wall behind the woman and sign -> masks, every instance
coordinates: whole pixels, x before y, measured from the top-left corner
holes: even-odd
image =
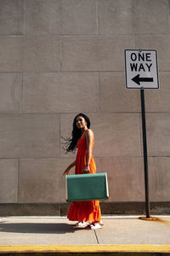
[[[76,155],[61,136],[79,112],[108,173],[108,211],[144,202],[140,96],[125,89],[124,49],[158,52],[160,89],[145,90],[150,201],[170,202],[170,1],[0,0],[0,13],[0,214],[64,211],[62,172]]]

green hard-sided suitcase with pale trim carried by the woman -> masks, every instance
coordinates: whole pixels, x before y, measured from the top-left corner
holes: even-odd
[[[76,174],[65,177],[66,201],[93,201],[109,198],[107,174]]]

